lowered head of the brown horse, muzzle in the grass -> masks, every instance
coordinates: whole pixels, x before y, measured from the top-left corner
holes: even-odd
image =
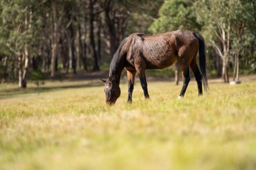
[[[107,80],[102,81],[105,83],[104,91],[106,94],[106,103],[110,105],[115,104],[121,93],[119,85],[110,77],[108,77]]]

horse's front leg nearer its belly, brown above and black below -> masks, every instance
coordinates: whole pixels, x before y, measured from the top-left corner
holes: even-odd
[[[150,95],[148,94],[148,84],[147,84],[147,80],[146,80],[146,62],[141,59],[138,58],[137,60],[135,60],[135,69],[137,71],[137,73],[139,74],[139,81],[141,83],[141,87],[143,89],[144,92],[144,96],[146,99],[150,98]]]

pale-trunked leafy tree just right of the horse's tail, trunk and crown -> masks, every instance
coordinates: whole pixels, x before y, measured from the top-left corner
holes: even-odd
[[[250,1],[240,0],[199,0],[195,3],[195,11],[197,11],[197,20],[203,24],[203,34],[205,40],[216,50],[222,58],[222,76],[224,83],[229,82],[228,77],[228,61],[234,54],[243,48],[245,40],[244,28],[246,18],[249,17],[253,10],[248,10],[247,5],[253,7]],[[235,44],[239,44],[236,48]],[[237,58],[237,57],[236,57]],[[236,64],[238,59],[236,60]],[[238,65],[236,65],[238,67]],[[237,72],[238,73],[238,72]]]

